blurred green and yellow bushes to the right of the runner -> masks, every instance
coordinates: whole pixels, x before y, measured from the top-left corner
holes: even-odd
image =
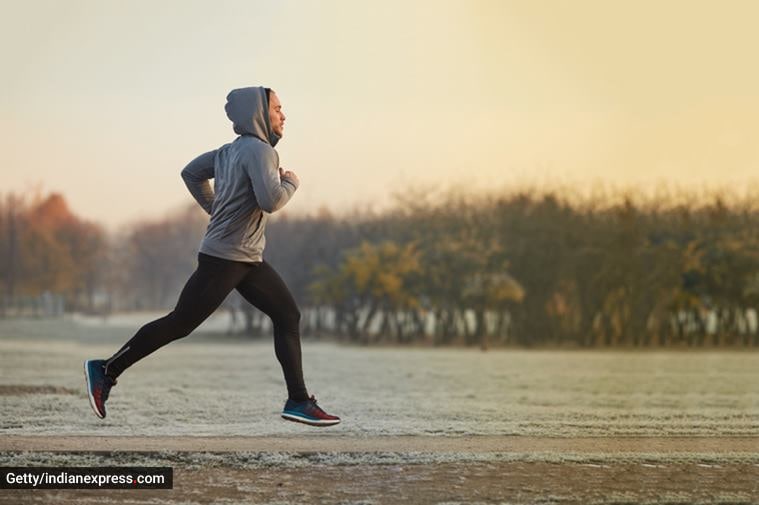
[[[268,257],[352,341],[757,346],[759,200],[697,196],[414,195],[278,221]]]

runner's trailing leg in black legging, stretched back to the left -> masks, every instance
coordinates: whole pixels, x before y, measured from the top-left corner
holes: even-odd
[[[174,310],[140,328],[106,362],[106,375],[116,379],[148,354],[189,335],[221,305],[251,268],[250,263],[199,254],[198,268],[185,284]]]

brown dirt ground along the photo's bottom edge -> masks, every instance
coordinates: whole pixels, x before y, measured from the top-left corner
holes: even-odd
[[[0,504],[756,504],[759,467],[488,463],[174,470],[171,490],[3,491]]]

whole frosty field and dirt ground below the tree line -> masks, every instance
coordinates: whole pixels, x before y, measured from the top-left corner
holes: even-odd
[[[279,417],[271,338],[210,320],[128,369],[97,419],[82,361],[151,317],[0,320],[0,466],[165,465],[174,490],[0,503],[759,503],[759,353],[306,337],[309,392],[343,420],[320,429]]]

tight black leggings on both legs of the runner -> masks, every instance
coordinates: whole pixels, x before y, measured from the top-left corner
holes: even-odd
[[[198,268],[185,284],[174,310],[147,323],[106,364],[116,378],[128,367],[173,340],[189,335],[227,295],[237,289],[268,315],[274,326],[274,352],[293,400],[308,398],[300,351],[300,311],[282,278],[266,261],[244,263],[198,254]]]

